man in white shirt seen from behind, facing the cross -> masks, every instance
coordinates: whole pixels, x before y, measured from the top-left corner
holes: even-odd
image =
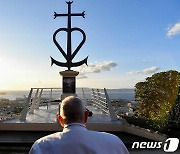
[[[74,96],[63,100],[58,119],[63,132],[37,140],[29,154],[128,154],[123,142],[115,135],[86,129],[88,111]]]

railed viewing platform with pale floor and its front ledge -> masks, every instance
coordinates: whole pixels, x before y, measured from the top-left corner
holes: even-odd
[[[59,99],[61,90],[60,88],[32,88],[20,118],[5,121],[4,125],[13,123],[16,125],[15,130],[59,131],[62,129],[57,121],[59,104],[61,103]],[[99,131],[110,131],[112,127],[108,129],[108,127],[104,127],[104,125],[118,124],[119,126],[123,123],[123,120],[118,120],[115,115],[106,89],[92,89],[92,92],[82,89],[81,92],[77,93],[77,96],[83,100],[86,108],[92,113],[92,116],[88,118],[88,125],[92,126],[91,128],[97,124],[103,124],[102,128],[98,127]],[[35,125],[38,126],[42,124],[43,127],[34,127]],[[26,125],[29,127],[23,128],[23,126],[26,127]]]

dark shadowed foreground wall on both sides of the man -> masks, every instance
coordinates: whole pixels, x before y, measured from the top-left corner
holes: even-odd
[[[33,142],[40,137],[54,133],[54,131],[0,131],[0,154],[27,154]],[[152,141],[136,135],[123,132],[109,132],[117,135],[123,140],[130,153],[147,153],[147,154],[161,154],[165,153],[162,149],[137,149],[132,150],[133,142]],[[180,149],[175,153],[179,153]],[[175,154],[173,153],[173,154]]]

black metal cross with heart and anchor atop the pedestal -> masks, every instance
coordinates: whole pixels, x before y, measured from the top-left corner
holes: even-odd
[[[56,64],[57,66],[60,66],[60,67],[67,67],[68,70],[70,70],[71,67],[77,67],[77,66],[80,66],[80,65],[83,65],[83,64],[87,65],[88,56],[84,60],[81,60],[79,62],[74,62],[74,63],[72,62],[73,58],[76,56],[76,54],[78,53],[78,51],[80,50],[80,48],[83,46],[83,44],[86,41],[86,34],[80,28],[77,28],[77,27],[71,28],[71,17],[73,17],[73,16],[81,16],[81,17],[85,18],[85,11],[83,11],[82,13],[71,13],[71,4],[73,3],[73,1],[72,2],[69,1],[69,2],[66,2],[66,3],[68,4],[68,13],[67,14],[57,14],[56,12],[54,12],[54,19],[56,17],[68,17],[67,28],[59,28],[59,29],[57,29],[54,32],[54,35],[53,35],[53,42],[57,46],[59,51],[62,53],[64,58],[66,59],[66,63],[59,62],[59,61],[57,61],[57,60],[55,60],[55,59],[53,59],[51,57],[51,66],[53,64]],[[64,50],[62,49],[62,47],[59,45],[59,43],[56,40],[57,33],[61,32],[61,31],[67,32],[67,54],[64,52]],[[73,31],[79,31],[83,35],[83,39],[80,42],[80,44],[77,46],[75,51],[72,53],[71,33]]]

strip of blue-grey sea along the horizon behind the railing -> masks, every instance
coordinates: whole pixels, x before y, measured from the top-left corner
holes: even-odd
[[[6,98],[9,100],[15,100],[16,98],[24,98],[29,94],[28,90],[25,91],[4,91],[6,94],[1,94],[0,98]],[[107,89],[110,99],[126,99],[129,101],[134,100],[134,90],[133,89]],[[87,99],[91,98],[91,89],[85,88],[85,97]],[[83,97],[82,88],[77,88],[77,94]],[[60,96],[60,95],[59,95]],[[57,98],[56,98],[57,99]]]

